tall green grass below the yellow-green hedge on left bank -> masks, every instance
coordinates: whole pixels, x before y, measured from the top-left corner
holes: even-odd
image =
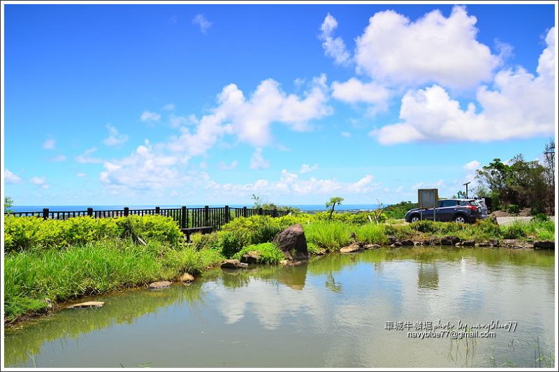
[[[150,281],[196,274],[221,262],[217,251],[171,247],[160,241],[147,246],[106,240],[63,250],[23,251],[4,260],[4,311],[14,319],[46,308],[45,299],[62,302]]]

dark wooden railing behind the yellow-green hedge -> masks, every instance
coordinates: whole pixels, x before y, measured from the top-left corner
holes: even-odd
[[[250,216],[270,216],[282,217],[287,216],[289,211],[279,211],[277,209],[266,210],[262,208],[231,208],[228,205],[225,207],[208,207],[203,208],[160,208],[154,209],[105,209],[94,211],[93,208],[87,208],[85,211],[51,211],[48,208],[43,208],[43,211],[37,212],[10,212],[6,215],[16,217],[36,216],[44,219],[66,220],[68,218],[79,216],[90,216],[93,218],[116,218],[122,216],[146,216],[160,214],[161,216],[168,216],[173,218],[182,230],[196,230],[198,228],[205,228],[208,230],[219,230],[223,225],[230,222],[233,218],[237,217],[250,217]]]

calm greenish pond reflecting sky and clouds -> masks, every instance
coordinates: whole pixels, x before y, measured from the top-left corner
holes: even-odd
[[[8,327],[5,364],[550,366],[554,262],[553,251],[414,247],[213,269]],[[477,337],[460,339],[463,325]]]

